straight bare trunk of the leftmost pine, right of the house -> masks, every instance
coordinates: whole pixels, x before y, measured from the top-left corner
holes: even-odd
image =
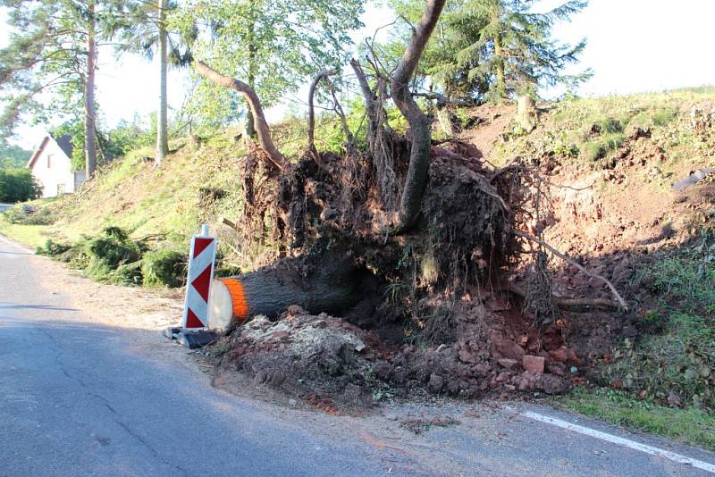
[[[87,180],[97,170],[97,130],[95,125],[95,73],[97,70],[97,20],[94,0],[88,3],[87,25],[87,77],[84,91],[84,151]]]

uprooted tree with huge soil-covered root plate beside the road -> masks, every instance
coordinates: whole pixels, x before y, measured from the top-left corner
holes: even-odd
[[[442,332],[437,307],[480,289],[523,296],[538,322],[553,320],[559,305],[614,305],[557,303],[551,296],[543,256],[555,250],[522,231],[541,230],[548,215],[540,200],[543,180],[534,168],[515,161],[494,169],[474,146],[457,140],[433,144],[432,120],[409,81],[444,3],[427,3],[392,71],[380,67],[374,52],[365,64],[351,61],[366,105],[364,153],[346,145],[345,156],[318,155],[309,126],[306,154],[290,163],[273,144],[256,91],[196,62],[207,79],[247,98],[257,125],[260,150],[247,162],[261,157],[263,167],[247,168],[243,178],[240,233],[246,242],[281,244],[280,260],[236,279],[246,305],[242,318],[276,316],[296,304],[313,313],[357,313],[361,323],[421,316],[420,327],[429,335]],[[315,75],[310,105],[315,85],[331,85],[331,74]],[[389,98],[408,121],[404,136],[386,119]],[[524,254],[534,257],[539,279],[526,290],[509,286],[504,273],[523,263]],[[625,306],[615,296],[615,305]],[[425,323],[425,316],[437,322]]]

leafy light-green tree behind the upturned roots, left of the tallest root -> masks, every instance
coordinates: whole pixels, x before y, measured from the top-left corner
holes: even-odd
[[[194,54],[225,77],[240,79],[269,107],[308,75],[344,63],[349,30],[361,26],[363,6],[358,0],[189,0],[170,22],[181,30],[203,25]],[[206,82],[198,92],[206,110],[228,115],[238,92],[217,91],[219,85]],[[249,109],[248,137],[256,136],[257,121]]]

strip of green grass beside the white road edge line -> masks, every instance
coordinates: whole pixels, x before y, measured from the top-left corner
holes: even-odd
[[[651,432],[686,444],[715,450],[715,414],[687,407],[674,409],[652,400],[635,399],[613,389],[574,389],[554,398],[556,406],[617,424]]]

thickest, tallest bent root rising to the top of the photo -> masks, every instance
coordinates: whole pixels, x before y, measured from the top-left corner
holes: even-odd
[[[429,118],[419,109],[412,93],[409,90],[409,79],[414,74],[422,52],[432,34],[434,26],[440,18],[445,0],[429,0],[405,53],[398,63],[397,69],[391,78],[391,94],[400,113],[408,120],[412,133],[412,146],[409,154],[409,166],[405,188],[400,198],[400,212],[398,223],[394,230],[404,233],[416,223],[422,207],[422,196],[427,184],[427,172],[430,161],[430,133]]]

